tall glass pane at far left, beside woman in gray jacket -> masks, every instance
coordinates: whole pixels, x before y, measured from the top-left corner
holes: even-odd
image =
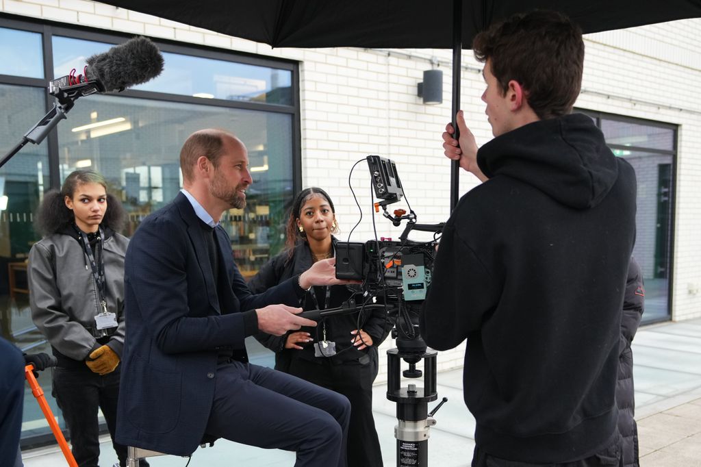
[[[22,140],[29,128],[46,114],[43,88],[0,84],[0,154]],[[27,287],[27,255],[39,239],[34,232],[34,213],[49,186],[46,140],[27,144],[0,168],[0,332],[5,339],[28,353],[50,350],[32,322]],[[60,411],[51,397],[51,379],[41,385],[54,414]],[[46,419],[29,386],[25,388],[22,438],[50,433]],[[62,419],[60,418],[60,423]]]

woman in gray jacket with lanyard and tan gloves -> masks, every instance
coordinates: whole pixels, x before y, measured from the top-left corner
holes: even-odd
[[[76,170],[60,192],[44,196],[36,219],[43,238],[29,252],[32,319],[58,360],[52,393],[81,467],[97,466],[100,457],[98,407],[120,465],[127,459],[126,447],[114,442],[128,245],[117,231],[124,219],[104,177]]]

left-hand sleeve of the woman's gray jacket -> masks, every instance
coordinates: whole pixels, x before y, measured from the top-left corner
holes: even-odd
[[[56,286],[53,251],[36,243],[29,251],[29,307],[32,320],[49,344],[64,356],[85,360],[95,348],[95,337],[62,309],[61,292]]]

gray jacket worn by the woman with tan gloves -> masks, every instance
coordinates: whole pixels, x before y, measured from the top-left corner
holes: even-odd
[[[107,345],[118,356],[124,346],[124,255],[129,239],[111,234],[104,240],[107,311],[116,313],[117,330]],[[88,257],[76,238],[53,234],[29,251],[29,306],[32,320],[62,356],[83,361],[99,347],[91,328],[100,313],[100,296]],[[102,339],[101,339],[102,340]]]

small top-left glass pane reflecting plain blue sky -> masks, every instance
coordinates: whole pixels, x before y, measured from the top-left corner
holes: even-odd
[[[41,34],[0,27],[0,74],[43,78]]]

